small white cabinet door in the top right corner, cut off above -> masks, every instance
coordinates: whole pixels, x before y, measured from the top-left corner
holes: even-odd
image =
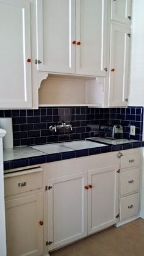
[[[131,0],[111,0],[111,19],[124,23],[131,24]]]

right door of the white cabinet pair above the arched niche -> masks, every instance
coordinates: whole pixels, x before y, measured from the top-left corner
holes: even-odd
[[[107,0],[76,1],[76,73],[106,76]]]

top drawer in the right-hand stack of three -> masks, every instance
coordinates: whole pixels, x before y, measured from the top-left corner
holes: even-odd
[[[139,166],[139,165],[140,165],[139,154],[121,156],[121,169],[133,167],[133,166]]]

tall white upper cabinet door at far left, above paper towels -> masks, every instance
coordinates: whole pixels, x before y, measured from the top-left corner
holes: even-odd
[[[0,108],[31,108],[30,3],[0,0]]]

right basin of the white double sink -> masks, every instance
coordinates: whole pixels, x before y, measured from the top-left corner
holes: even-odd
[[[105,147],[106,145],[98,143],[98,142],[91,142],[91,141],[70,141],[64,142],[62,144],[65,147],[73,148],[73,150],[81,150],[86,148],[95,148],[95,147]]]

